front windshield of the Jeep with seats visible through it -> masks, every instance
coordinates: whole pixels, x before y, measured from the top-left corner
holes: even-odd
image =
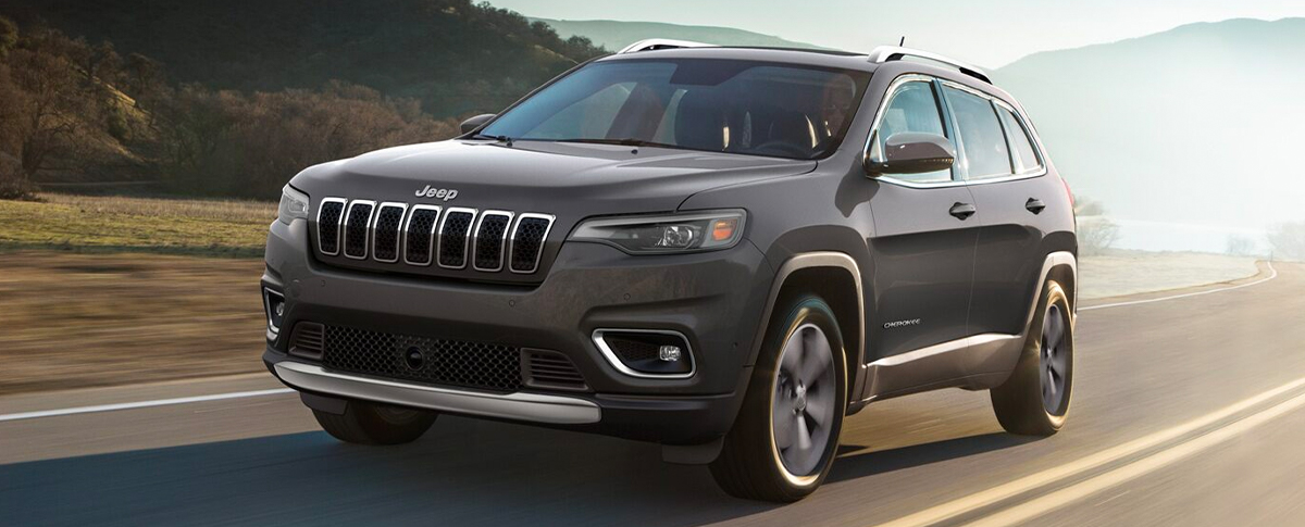
[[[814,159],[843,141],[869,77],[749,60],[598,61],[482,134]]]

